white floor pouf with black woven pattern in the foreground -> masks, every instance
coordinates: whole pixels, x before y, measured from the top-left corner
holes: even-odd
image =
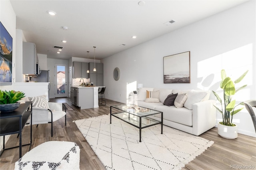
[[[44,142],[22,156],[15,170],[79,170],[80,148],[74,142]]]

